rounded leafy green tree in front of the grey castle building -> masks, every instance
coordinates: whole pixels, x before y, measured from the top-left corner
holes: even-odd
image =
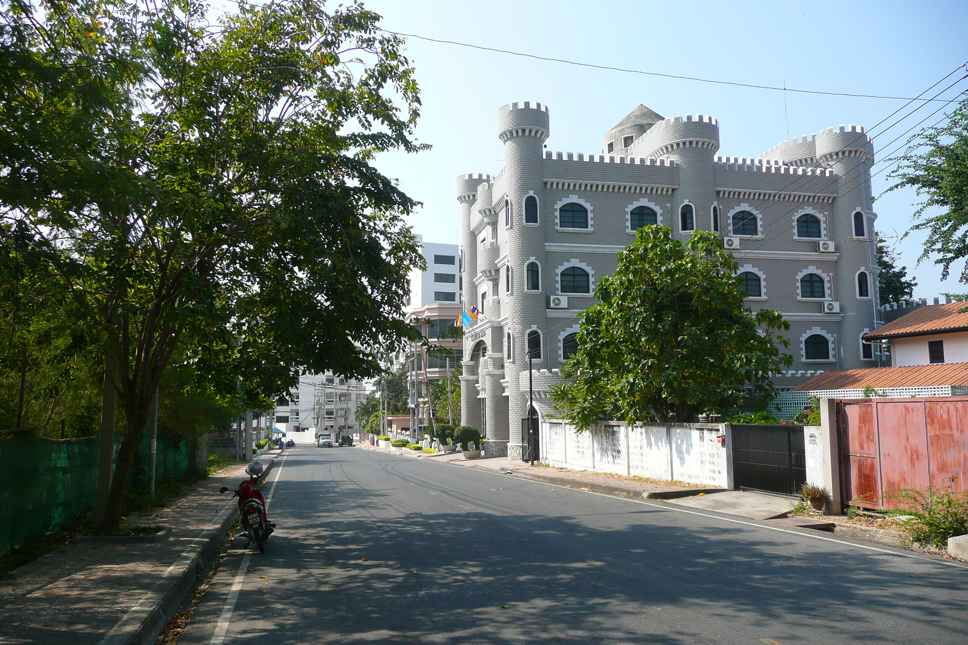
[[[602,419],[692,421],[734,407],[762,409],[775,396],[771,372],[793,359],[778,311],[743,302],[738,266],[714,233],[688,242],[669,228],[640,228],[619,267],[582,312],[569,379],[552,400],[579,430]]]

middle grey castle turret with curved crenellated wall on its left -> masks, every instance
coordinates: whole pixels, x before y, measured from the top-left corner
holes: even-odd
[[[669,157],[681,166],[680,185],[673,193],[669,224],[689,235],[712,229],[715,201],[713,156],[719,150],[719,122],[711,116],[686,114],[656,123],[629,150],[632,157]],[[691,213],[690,213],[691,211]]]

